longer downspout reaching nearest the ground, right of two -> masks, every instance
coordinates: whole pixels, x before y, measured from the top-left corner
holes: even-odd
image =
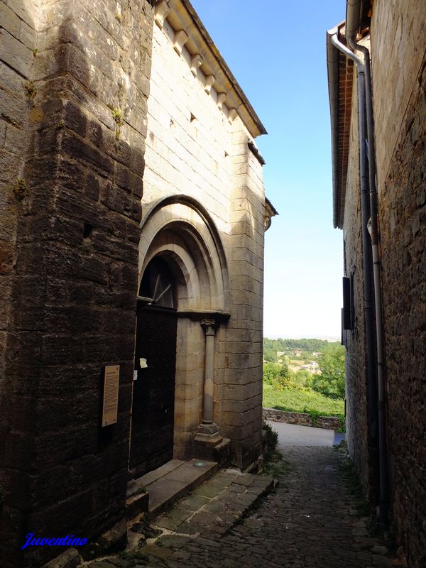
[[[354,38],[360,24],[361,0],[347,0],[346,38],[352,49],[364,55],[366,72],[366,119],[368,138],[368,172],[370,185],[371,250],[373,253],[374,300],[376,303],[377,342],[377,391],[378,391],[378,459],[379,459],[379,520],[384,527],[388,524],[388,449],[386,441],[386,391],[383,337],[383,305],[381,286],[381,261],[378,252],[378,196],[376,186],[376,151],[374,143],[373,97],[371,95],[370,52],[364,45],[358,45]]]

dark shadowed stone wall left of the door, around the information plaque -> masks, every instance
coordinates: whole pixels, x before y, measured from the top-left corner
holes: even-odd
[[[145,0],[6,4],[0,555],[12,567],[28,532],[92,538],[124,517],[153,16]],[[120,365],[109,431],[105,364]]]

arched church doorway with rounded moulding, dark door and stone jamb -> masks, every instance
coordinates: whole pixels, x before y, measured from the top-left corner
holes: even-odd
[[[130,467],[137,476],[172,457],[193,457],[204,408],[207,340],[202,321],[213,317],[226,322],[231,299],[219,231],[192,197],[173,195],[146,208],[139,261],[138,378],[130,444]],[[217,328],[222,345],[224,333]],[[141,358],[147,359],[146,368],[140,367]],[[223,376],[223,367],[220,372]],[[216,417],[222,404],[218,385]]]

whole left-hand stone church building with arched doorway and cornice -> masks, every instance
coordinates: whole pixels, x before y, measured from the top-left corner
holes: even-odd
[[[3,0],[0,25],[9,568],[28,532],[119,540],[129,480],[172,457],[261,455],[276,212],[266,131],[189,1]]]

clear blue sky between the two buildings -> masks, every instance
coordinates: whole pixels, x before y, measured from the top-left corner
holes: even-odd
[[[325,34],[344,0],[191,0],[263,122],[265,337],[340,337],[342,231],[332,224]]]

